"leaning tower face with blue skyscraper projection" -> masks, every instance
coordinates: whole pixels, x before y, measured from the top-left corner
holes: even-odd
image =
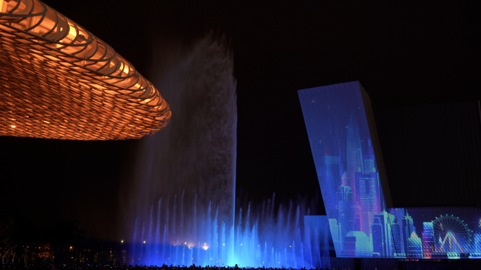
[[[299,98],[336,255],[392,256],[359,82],[300,90]]]

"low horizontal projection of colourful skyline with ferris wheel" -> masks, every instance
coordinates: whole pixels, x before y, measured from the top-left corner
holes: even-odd
[[[397,257],[481,258],[481,210],[472,207],[391,208]],[[398,240],[399,239],[399,240]]]

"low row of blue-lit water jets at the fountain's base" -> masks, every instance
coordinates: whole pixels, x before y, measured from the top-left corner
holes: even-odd
[[[312,239],[319,242],[319,237],[309,236],[309,230],[304,233],[304,215],[309,214],[306,206],[291,202],[287,207],[276,207],[273,196],[257,207],[248,203],[247,209],[239,208],[235,227],[226,228],[226,223],[219,220],[217,206],[202,208],[195,199],[193,205],[184,205],[184,200],[184,195],[174,195],[170,201],[160,199],[150,207],[148,219],[135,221],[129,263],[297,269],[321,266],[322,243],[311,243]],[[226,230],[231,229],[235,233],[233,257],[229,258]]]

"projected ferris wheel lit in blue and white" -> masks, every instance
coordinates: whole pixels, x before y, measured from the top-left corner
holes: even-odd
[[[432,221],[437,252],[468,252],[473,231],[468,224],[452,214],[441,215]]]

